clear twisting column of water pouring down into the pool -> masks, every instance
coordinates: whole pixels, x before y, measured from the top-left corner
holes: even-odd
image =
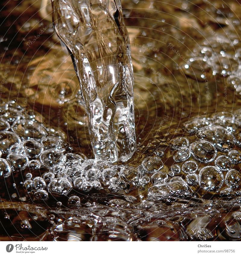
[[[73,59],[96,158],[126,161],[136,146],[133,67],[119,0],[52,0]]]

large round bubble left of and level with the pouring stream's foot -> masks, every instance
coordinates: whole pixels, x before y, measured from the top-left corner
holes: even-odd
[[[53,165],[63,161],[63,153],[58,149],[44,150],[39,159],[40,163],[46,167],[52,167]]]

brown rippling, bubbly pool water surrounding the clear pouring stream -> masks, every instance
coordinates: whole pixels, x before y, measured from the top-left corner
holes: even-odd
[[[93,160],[51,3],[2,7],[0,240],[241,239],[237,1],[122,2],[137,140],[127,163]]]

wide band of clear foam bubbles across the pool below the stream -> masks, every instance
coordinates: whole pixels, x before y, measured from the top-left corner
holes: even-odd
[[[46,201],[51,195],[58,206],[66,197],[69,206],[80,206],[83,194],[96,191],[132,201],[240,195],[239,119],[239,111],[192,118],[183,123],[190,136],[174,137],[164,152],[130,166],[71,153],[63,132],[46,128],[40,114],[10,101],[0,107],[0,178],[14,181],[21,173],[20,184],[10,182],[25,191],[20,200]]]

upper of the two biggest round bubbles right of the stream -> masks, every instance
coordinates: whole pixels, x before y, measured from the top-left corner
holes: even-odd
[[[192,156],[200,163],[210,163],[217,155],[217,150],[208,141],[195,141],[190,145]]]

